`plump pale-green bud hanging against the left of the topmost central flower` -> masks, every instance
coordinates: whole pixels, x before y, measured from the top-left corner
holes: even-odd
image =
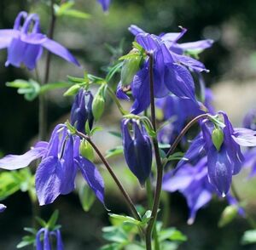
[[[131,50],[130,54],[132,53],[133,50]],[[131,59],[124,60],[124,64],[121,70],[121,82],[123,87],[131,84],[133,77],[135,76],[137,71],[139,71],[141,62],[141,56],[134,56]]]

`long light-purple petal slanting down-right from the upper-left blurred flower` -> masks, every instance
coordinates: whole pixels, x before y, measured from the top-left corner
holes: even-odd
[[[67,48],[63,47],[60,43],[56,43],[55,41],[47,38],[45,42],[42,43],[42,46],[44,46],[44,48],[47,48],[51,53],[56,54],[64,60],[67,60],[68,62],[79,66],[78,60],[76,60],[73,55],[67,50]]]

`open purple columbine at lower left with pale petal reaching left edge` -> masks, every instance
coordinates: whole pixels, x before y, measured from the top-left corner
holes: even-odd
[[[36,191],[40,205],[55,201],[75,188],[78,171],[104,203],[104,183],[101,174],[92,162],[80,156],[79,136],[70,134],[66,125],[55,127],[48,142],[38,142],[24,155],[9,155],[0,160],[0,168],[15,170],[26,168],[32,161],[41,158],[36,172]]]

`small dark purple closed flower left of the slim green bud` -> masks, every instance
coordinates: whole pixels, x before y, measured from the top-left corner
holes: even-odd
[[[82,133],[85,133],[84,128],[87,121],[89,122],[90,129],[93,125],[92,101],[93,95],[90,91],[80,88],[73,102],[71,124]]]

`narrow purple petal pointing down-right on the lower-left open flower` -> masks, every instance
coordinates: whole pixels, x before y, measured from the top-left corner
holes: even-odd
[[[101,173],[97,170],[92,162],[85,159],[84,157],[79,157],[78,165],[79,169],[90,186],[90,188],[95,192],[96,197],[104,204],[104,182]]]

